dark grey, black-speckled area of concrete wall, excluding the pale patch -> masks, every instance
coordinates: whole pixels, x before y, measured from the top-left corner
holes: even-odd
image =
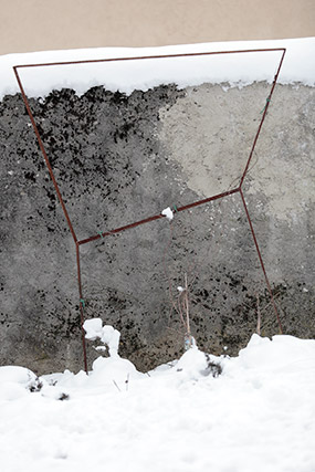
[[[175,85],[129,96],[94,87],[82,96],[62,90],[30,101],[78,239],[200,199],[158,140],[160,108],[185,93]],[[75,248],[20,95],[0,103],[0,361],[40,374],[77,370]],[[260,221],[260,233],[269,227],[269,219]],[[284,331],[314,337],[309,284],[303,291],[305,281],[282,272],[273,291]],[[119,329],[120,355],[151,368],[183,352],[171,300],[185,273],[200,348],[222,354],[227,346],[234,355],[245,346],[255,331],[258,297],[262,334],[277,334],[238,196],[82,247],[85,314]],[[90,366],[94,358],[90,346]]]

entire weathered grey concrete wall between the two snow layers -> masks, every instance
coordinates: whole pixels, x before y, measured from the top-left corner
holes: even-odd
[[[31,101],[78,239],[238,186],[269,94],[174,85]],[[244,185],[286,334],[314,337],[314,90],[277,86]],[[82,368],[75,247],[20,96],[0,104],[0,363]],[[313,174],[312,174],[313,172]],[[235,354],[279,332],[240,196],[81,247],[86,316],[122,331],[141,368],[182,352],[171,311],[188,273],[191,327]],[[88,361],[94,358],[88,348]]]

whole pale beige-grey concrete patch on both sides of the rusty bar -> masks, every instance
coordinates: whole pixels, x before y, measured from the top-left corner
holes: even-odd
[[[238,187],[269,91],[265,83],[242,90],[204,84],[160,111],[159,139],[200,197]],[[248,193],[264,193],[265,210],[290,224],[314,211],[314,88],[279,85],[246,178]]]

